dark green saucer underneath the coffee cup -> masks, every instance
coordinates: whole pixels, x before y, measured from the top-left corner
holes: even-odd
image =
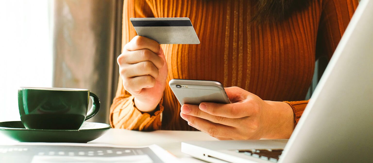
[[[79,130],[26,129],[21,121],[0,122],[0,134],[21,142],[87,143],[103,135],[110,125],[84,122]]]

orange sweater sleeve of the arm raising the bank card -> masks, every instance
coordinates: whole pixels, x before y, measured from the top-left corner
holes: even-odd
[[[124,0],[122,48],[137,35],[129,19],[131,17],[154,17],[147,1]],[[134,103],[134,97],[123,88],[123,80],[119,77],[118,88],[113,104],[110,107],[110,125],[113,128],[127,130],[159,130],[161,127],[161,113],[163,99],[161,99],[153,114],[143,113]]]

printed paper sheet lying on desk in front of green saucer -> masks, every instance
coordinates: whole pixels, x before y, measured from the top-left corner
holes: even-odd
[[[179,160],[157,145],[145,147],[82,143],[0,145],[0,163],[174,163]]]

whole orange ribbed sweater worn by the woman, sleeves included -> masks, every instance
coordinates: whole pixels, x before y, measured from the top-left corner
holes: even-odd
[[[252,0],[254,1],[254,0]],[[331,57],[358,0],[312,0],[281,22],[250,22],[250,0],[124,0],[123,46],[136,32],[131,17],[189,17],[199,45],[161,45],[171,79],[217,80],[263,100],[287,102],[298,122],[307,101],[314,63]],[[129,130],[196,130],[180,117],[168,86],[157,111],[140,112],[119,77],[110,124]]]

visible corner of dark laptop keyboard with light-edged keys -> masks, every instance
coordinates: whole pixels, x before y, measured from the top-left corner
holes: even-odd
[[[283,149],[243,149],[236,150],[238,153],[243,153],[247,156],[256,157],[270,162],[277,162],[280,158]]]

